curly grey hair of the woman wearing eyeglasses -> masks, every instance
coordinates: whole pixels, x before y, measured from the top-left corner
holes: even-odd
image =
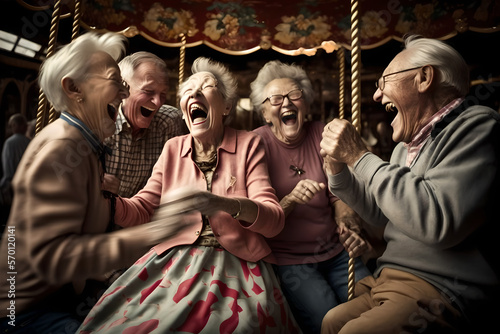
[[[309,105],[313,102],[314,90],[306,71],[295,64],[288,65],[279,60],[271,60],[260,69],[257,78],[250,84],[250,101],[255,111],[262,111],[262,102],[267,98],[265,96],[266,86],[271,81],[282,78],[294,80],[300,89],[302,89],[306,103]]]

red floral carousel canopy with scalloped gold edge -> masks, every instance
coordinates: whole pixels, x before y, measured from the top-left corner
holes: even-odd
[[[61,12],[74,12],[74,3],[62,2]],[[408,33],[447,39],[467,30],[499,30],[500,0],[82,0],[79,10],[87,29],[142,35],[166,47],[184,42],[233,55],[259,49],[313,55],[318,48],[350,48],[352,3],[359,11],[361,49]]]

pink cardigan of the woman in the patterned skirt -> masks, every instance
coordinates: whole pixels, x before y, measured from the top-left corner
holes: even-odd
[[[149,222],[161,197],[179,187],[207,190],[205,177],[191,158],[191,143],[190,134],[167,141],[144,189],[130,199],[117,200],[117,224],[129,227]],[[243,260],[255,262],[264,259],[275,263],[264,237],[271,238],[280,233],[285,216],[269,181],[260,137],[252,132],[225,128],[217,156],[212,192],[221,196],[247,197],[258,207],[257,218],[248,222],[250,224],[242,224],[226,212],[209,217],[217,240],[224,249]],[[201,214],[197,215],[199,223],[154,247],[157,254],[178,245],[192,244],[202,228]]]

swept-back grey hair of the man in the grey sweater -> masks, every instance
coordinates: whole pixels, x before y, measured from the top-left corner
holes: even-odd
[[[457,96],[469,92],[469,68],[467,63],[454,48],[448,44],[419,35],[405,38],[408,60],[413,67],[431,65],[437,69],[440,84]]]

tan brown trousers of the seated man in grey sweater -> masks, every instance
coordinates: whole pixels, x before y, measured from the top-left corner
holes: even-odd
[[[322,334],[457,333],[463,321],[439,290],[404,271],[385,268],[355,286],[356,297],[331,309]]]

